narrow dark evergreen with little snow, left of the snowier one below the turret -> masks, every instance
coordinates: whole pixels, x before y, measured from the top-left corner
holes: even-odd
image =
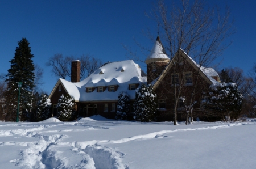
[[[127,115],[130,112],[130,99],[129,95],[125,91],[121,91],[118,94],[117,103],[117,115],[115,120],[127,120]]]

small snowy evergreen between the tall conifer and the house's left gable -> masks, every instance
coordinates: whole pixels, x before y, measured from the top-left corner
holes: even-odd
[[[47,99],[45,94],[40,96],[40,100],[37,105],[35,119],[36,121],[46,120],[50,117],[51,100]]]

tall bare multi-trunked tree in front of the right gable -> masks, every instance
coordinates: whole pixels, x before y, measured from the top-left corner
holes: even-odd
[[[193,86],[189,88],[190,95],[187,96],[187,117],[192,116],[193,105],[197,96],[196,93],[207,90],[201,88],[200,71],[210,65],[222,52],[230,45],[225,43],[225,39],[234,33],[232,22],[229,19],[229,9],[226,7],[222,13],[218,7],[211,7],[206,1],[180,0],[167,6],[162,0],[155,6],[153,18],[160,26],[160,36],[163,37],[163,46],[168,57],[171,58],[172,75],[178,74],[179,83],[172,88],[166,87],[163,92],[171,96],[174,102],[174,125],[177,121],[177,109],[179,108],[179,98],[184,92],[188,92],[185,86],[185,72],[189,67],[185,62],[180,66],[177,59],[183,51],[187,56],[191,56],[196,61],[196,71],[193,71]],[[176,60],[175,60],[176,58]],[[171,75],[169,76],[171,77]],[[172,79],[171,79],[172,78]],[[166,79],[170,84],[175,77]]]

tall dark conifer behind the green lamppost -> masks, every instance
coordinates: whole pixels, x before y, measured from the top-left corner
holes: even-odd
[[[20,88],[20,114],[22,115],[20,121],[30,119],[29,112],[30,103],[32,99],[32,89],[34,85],[34,64],[32,61],[33,54],[31,54],[30,43],[26,38],[18,41],[18,47],[16,47],[14,58],[10,61],[11,66],[7,74],[7,92],[5,99],[7,102],[7,109],[9,114],[6,120],[15,121],[16,108],[18,105],[18,82],[22,82]]]

